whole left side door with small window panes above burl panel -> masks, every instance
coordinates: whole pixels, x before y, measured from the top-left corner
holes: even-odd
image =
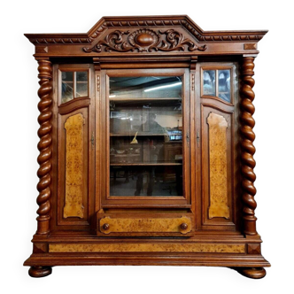
[[[88,65],[55,66],[58,83],[57,226],[85,229],[94,212],[95,96]],[[93,145],[92,145],[93,144]],[[62,227],[61,227],[62,226]]]

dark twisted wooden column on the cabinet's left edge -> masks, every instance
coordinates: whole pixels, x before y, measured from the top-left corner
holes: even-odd
[[[40,128],[38,129],[38,136],[40,141],[37,145],[38,150],[40,151],[39,156],[37,157],[37,162],[40,165],[37,176],[40,178],[40,181],[37,184],[37,190],[39,195],[36,199],[36,203],[39,206],[37,210],[38,217],[37,221],[37,235],[45,235],[50,232],[50,171],[52,168],[51,164],[51,118],[52,112],[50,106],[52,104],[52,84],[51,84],[51,73],[52,67],[49,60],[38,60],[38,79],[40,88],[38,89],[38,97],[40,102],[38,103],[38,110],[40,115],[38,116],[38,123]]]

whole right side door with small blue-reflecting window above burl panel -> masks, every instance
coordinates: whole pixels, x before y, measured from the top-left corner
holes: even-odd
[[[233,63],[199,63],[201,228],[236,230],[238,80]],[[200,213],[200,208],[197,211]],[[200,220],[198,220],[200,223]]]

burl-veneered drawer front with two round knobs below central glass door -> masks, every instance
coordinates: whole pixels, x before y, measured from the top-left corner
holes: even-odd
[[[182,227],[182,225],[185,226]],[[108,225],[104,229],[104,225]],[[100,220],[100,231],[104,234],[110,233],[182,233],[188,234],[192,229],[191,219],[182,218],[154,218],[154,219],[134,219],[105,217]]]

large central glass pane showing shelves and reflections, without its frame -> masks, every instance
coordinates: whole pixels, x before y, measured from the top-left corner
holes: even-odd
[[[182,196],[182,77],[110,77],[110,196]]]

